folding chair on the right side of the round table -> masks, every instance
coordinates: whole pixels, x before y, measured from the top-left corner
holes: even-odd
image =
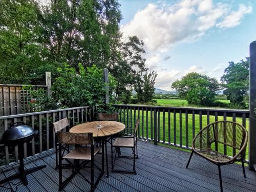
[[[138,159],[138,144],[137,144],[138,126],[139,126],[139,120],[137,119],[133,135],[117,137],[117,138],[115,138],[114,143],[113,143],[113,138],[111,138],[111,170],[112,170],[112,172],[136,174],[135,159],[136,158]],[[132,128],[129,128],[129,129],[132,129]],[[114,151],[113,151],[113,147],[115,148]],[[132,148],[133,156],[121,155],[122,147]],[[116,153],[115,153],[115,158],[113,161],[113,153],[114,152],[116,152]],[[117,153],[118,153],[119,158],[133,158],[133,171],[114,169],[114,164],[115,164]]]

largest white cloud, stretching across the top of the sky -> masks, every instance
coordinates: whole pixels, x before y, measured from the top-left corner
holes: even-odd
[[[121,26],[125,36],[137,35],[149,52],[166,52],[179,42],[191,42],[200,38],[210,28],[228,28],[241,23],[252,11],[250,6],[240,5],[238,11],[230,11],[227,4],[212,0],[182,0],[177,4],[148,4],[138,11],[130,23]]]

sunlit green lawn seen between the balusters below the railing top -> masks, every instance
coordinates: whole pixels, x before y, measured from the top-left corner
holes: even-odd
[[[144,109],[145,110],[145,109]],[[120,114],[120,111],[119,111]],[[131,127],[131,116],[130,111],[128,114],[129,122],[127,124],[127,113],[125,111],[125,122],[123,119],[123,111],[122,111],[122,122],[127,124],[127,126]],[[177,145],[181,144],[186,146],[186,137],[188,138],[188,146],[191,146],[191,142],[193,140],[193,129],[192,129],[192,114],[188,114],[188,129],[187,129],[187,136],[186,136],[186,127],[185,127],[185,114],[182,114],[181,117],[181,130],[180,130],[180,114],[179,112],[176,113],[176,126],[174,126],[174,113],[170,113],[170,138],[168,137],[168,113],[164,113],[164,119],[165,122],[163,123],[163,112],[160,112],[160,130],[159,130],[159,136],[161,141],[170,143],[176,143]],[[136,111],[136,118],[138,118],[138,111]],[[143,121],[142,121],[142,111],[140,111],[140,125],[139,125],[139,136],[140,137],[147,137],[151,138],[151,113],[148,112],[148,126],[146,126],[146,111],[143,113]],[[132,127],[134,127],[135,121],[134,121],[134,110],[132,111]],[[223,120],[223,117],[219,116],[218,120]],[[232,117],[227,117],[227,120],[232,121]],[[238,123],[242,124],[242,118],[237,118],[236,121]],[[210,116],[210,123],[215,122],[215,116]],[[154,122],[152,126],[154,125]],[[202,115],[202,127],[207,125],[207,116]],[[248,119],[246,119],[246,129],[248,129]],[[199,125],[199,115],[195,115],[195,135],[200,131],[200,125]],[[154,133],[154,130],[153,130]],[[174,135],[176,133],[176,140],[174,139]],[[181,137],[180,137],[181,136]],[[154,138],[153,138],[154,139]],[[220,147],[221,148],[221,147]],[[248,147],[247,147],[248,149]],[[220,151],[223,152],[223,148],[220,149]],[[232,156],[232,148],[227,147],[227,155]],[[248,150],[246,151],[246,159],[248,159]]]

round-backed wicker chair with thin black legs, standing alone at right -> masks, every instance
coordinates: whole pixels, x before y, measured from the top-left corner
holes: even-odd
[[[248,134],[242,125],[232,121],[217,121],[208,124],[193,139],[192,152],[187,162],[189,165],[191,157],[195,152],[197,155],[207,159],[208,161],[218,165],[220,187],[222,187],[221,165],[242,162],[243,174],[245,176],[244,158],[247,145]],[[223,144],[233,148],[233,152],[237,152],[233,157],[222,154],[219,151],[218,144]],[[212,146],[214,145],[214,146]]]

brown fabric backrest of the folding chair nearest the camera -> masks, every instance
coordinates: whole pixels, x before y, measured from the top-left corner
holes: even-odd
[[[93,144],[93,133],[57,132],[58,141],[65,144]]]

